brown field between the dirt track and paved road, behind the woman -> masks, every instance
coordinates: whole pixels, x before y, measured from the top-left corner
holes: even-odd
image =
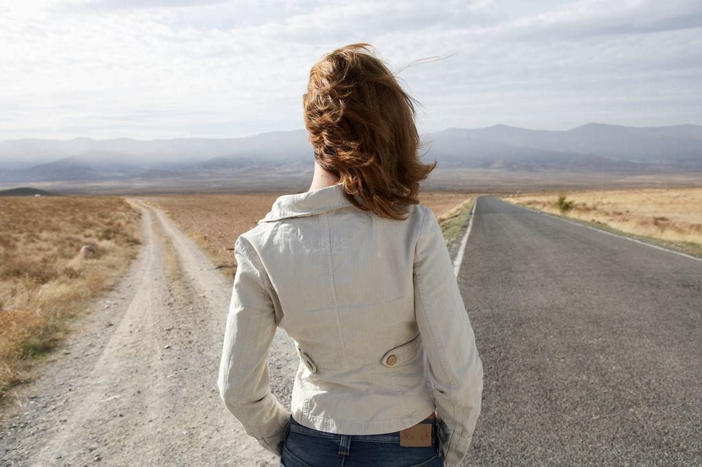
[[[139,199],[165,210],[187,232],[214,264],[227,276],[234,277],[234,241],[256,226],[270,210],[279,194],[185,194],[142,196]],[[458,206],[470,201],[470,195],[456,191],[428,191],[420,194],[427,205],[444,222],[458,214]]]

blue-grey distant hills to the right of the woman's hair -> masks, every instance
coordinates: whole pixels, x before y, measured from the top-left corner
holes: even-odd
[[[469,165],[476,160],[484,165],[488,160],[534,169],[702,169],[702,126],[695,125],[633,128],[588,123],[567,131],[496,125],[449,129],[426,135],[426,139],[433,141],[430,147],[439,161],[443,156]],[[589,161],[583,156],[590,156]]]

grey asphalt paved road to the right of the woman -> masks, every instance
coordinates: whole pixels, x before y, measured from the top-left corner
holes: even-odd
[[[482,197],[458,282],[470,465],[700,465],[702,261]]]

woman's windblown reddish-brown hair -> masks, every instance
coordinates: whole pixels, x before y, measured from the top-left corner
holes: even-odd
[[[399,220],[419,203],[419,182],[436,162],[419,160],[415,102],[367,43],[334,50],[310,70],[303,108],[314,158],[358,208]]]

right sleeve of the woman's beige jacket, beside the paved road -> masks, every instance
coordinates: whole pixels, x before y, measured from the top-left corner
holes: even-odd
[[[441,421],[444,462],[458,465],[480,414],[483,370],[446,241],[428,208],[415,250],[414,302]]]

